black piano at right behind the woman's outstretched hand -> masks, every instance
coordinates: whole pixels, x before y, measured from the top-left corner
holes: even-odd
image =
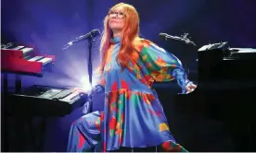
[[[253,81],[256,49],[230,48],[228,42],[213,43],[198,49],[198,81]],[[233,82],[234,83],[234,82]]]

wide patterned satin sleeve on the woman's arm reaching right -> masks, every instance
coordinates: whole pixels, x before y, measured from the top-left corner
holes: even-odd
[[[186,93],[186,85],[190,81],[181,61],[173,53],[165,51],[151,41],[143,40],[140,56],[147,75],[159,82],[176,79],[183,93]]]

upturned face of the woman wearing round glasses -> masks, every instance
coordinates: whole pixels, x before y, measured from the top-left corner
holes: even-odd
[[[125,13],[122,6],[116,7],[109,12],[109,28],[112,30],[122,30],[124,26]]]

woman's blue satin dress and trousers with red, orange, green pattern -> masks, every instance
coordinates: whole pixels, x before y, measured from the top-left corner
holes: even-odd
[[[116,57],[121,39],[111,40],[107,62],[101,76],[105,87],[104,112],[84,115],[71,125],[68,151],[116,150],[120,147],[153,147],[167,151],[186,151],[176,143],[168,126],[154,81],[176,79],[186,92],[185,70],[172,54],[151,41],[136,39],[139,56],[121,70]]]

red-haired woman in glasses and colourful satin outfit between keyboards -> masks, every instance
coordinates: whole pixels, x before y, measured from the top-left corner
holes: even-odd
[[[104,112],[87,114],[72,124],[68,151],[158,145],[161,151],[186,151],[171,135],[152,89],[154,81],[173,79],[184,93],[196,88],[186,78],[182,64],[172,53],[138,37],[139,17],[134,6],[113,6],[104,26],[99,83],[105,88]]]

